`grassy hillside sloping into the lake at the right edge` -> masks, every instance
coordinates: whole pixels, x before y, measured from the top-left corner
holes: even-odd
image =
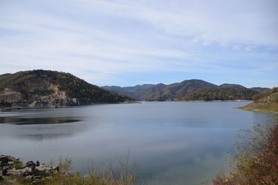
[[[253,103],[238,107],[243,110],[257,111],[257,112],[271,112],[278,113],[278,88],[273,87],[269,91],[253,96]]]

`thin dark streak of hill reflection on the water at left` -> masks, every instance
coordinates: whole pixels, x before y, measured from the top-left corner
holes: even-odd
[[[13,123],[16,125],[58,124],[58,123],[72,123],[78,121],[81,120],[69,118],[69,117],[54,117],[54,118],[0,117],[0,123]]]

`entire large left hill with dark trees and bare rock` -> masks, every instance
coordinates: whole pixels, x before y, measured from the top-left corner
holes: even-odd
[[[129,100],[132,99],[91,85],[70,73],[33,70],[0,76],[2,105],[63,106]]]

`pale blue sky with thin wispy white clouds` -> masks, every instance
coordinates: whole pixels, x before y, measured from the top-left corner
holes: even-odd
[[[0,73],[278,86],[277,0],[0,0]]]

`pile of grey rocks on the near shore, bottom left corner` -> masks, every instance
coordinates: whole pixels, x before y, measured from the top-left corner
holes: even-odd
[[[15,157],[0,155],[0,184],[13,184],[13,179],[16,178],[31,184],[39,184],[43,179],[51,178],[58,173],[60,173],[58,166],[47,166],[40,164],[39,161],[28,161],[24,164]]]

